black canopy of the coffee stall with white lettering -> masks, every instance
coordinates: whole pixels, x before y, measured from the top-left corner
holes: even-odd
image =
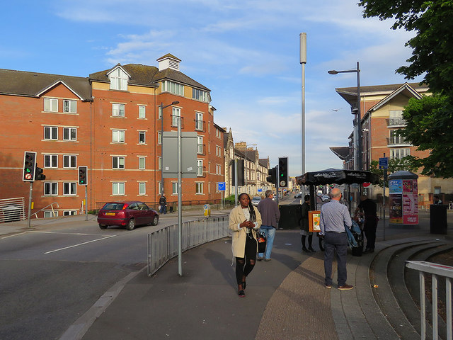
[[[379,176],[369,171],[326,169],[321,171],[306,172],[296,177],[297,184],[319,186],[321,184],[362,184],[379,183]]]

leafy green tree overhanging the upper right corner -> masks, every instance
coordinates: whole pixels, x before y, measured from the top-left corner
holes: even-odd
[[[428,157],[410,157],[411,166],[422,174],[453,177],[453,1],[452,0],[362,0],[365,18],[394,19],[392,29],[414,31],[406,42],[412,48],[408,66],[396,72],[423,81],[434,96],[412,99],[404,109],[408,122],[400,133],[419,150],[429,150]]]

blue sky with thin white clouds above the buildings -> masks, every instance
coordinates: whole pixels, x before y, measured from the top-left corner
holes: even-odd
[[[357,0],[49,0],[2,5],[0,68],[88,77],[121,64],[157,66],[171,53],[180,70],[211,89],[214,122],[260,158],[289,157],[301,174],[302,67],[307,35],[306,171],[342,163],[350,108],[335,89],[403,83],[395,69],[411,56],[412,33],[362,18]],[[416,79],[420,81],[421,79]],[[333,111],[338,110],[338,111]]]

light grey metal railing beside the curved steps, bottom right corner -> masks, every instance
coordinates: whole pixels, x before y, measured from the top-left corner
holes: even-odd
[[[445,310],[447,312],[447,339],[452,339],[452,278],[453,267],[425,261],[406,261],[406,267],[418,271],[420,279],[420,322],[421,339],[426,339],[426,300],[425,300],[425,273],[432,277],[432,339],[438,337],[437,324],[437,276],[445,277]]]

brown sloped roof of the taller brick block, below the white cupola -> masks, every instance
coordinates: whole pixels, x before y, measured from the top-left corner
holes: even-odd
[[[183,72],[176,71],[174,69],[164,69],[162,71],[159,71],[157,67],[142,64],[116,64],[111,69],[105,69],[101,72],[90,74],[90,79],[95,81],[108,82],[109,79],[107,74],[116,67],[122,67],[122,69],[125,69],[125,71],[130,74],[129,84],[132,85],[158,87],[159,84],[157,83],[159,81],[169,79],[183,85],[192,86],[205,91],[211,91],[206,86],[203,86],[199,82],[183,74]]]

